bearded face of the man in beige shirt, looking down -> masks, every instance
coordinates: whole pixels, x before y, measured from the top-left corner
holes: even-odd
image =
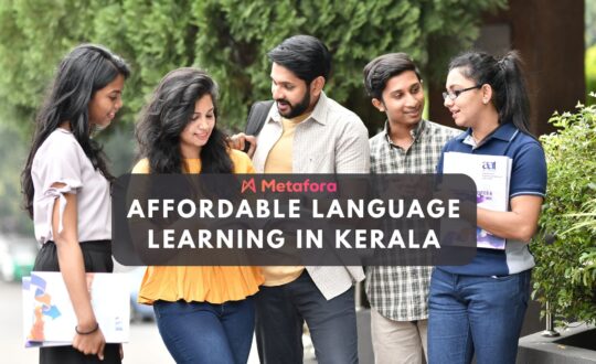
[[[310,113],[318,95],[311,93],[315,81],[307,85],[288,68],[274,62],[272,65],[272,96],[279,115],[287,119]]]

